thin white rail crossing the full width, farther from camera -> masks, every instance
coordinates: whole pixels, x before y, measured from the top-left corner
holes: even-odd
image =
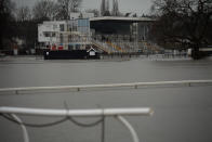
[[[138,89],[140,87],[177,87],[177,86],[212,86],[212,80],[181,80],[181,81],[156,81],[156,82],[130,82],[130,83],[108,83],[108,85],[83,85],[83,86],[54,86],[54,87],[26,87],[26,88],[1,88],[1,92],[15,92],[19,94],[19,91],[44,91],[44,90],[85,90],[85,89],[104,89],[104,88],[124,88],[131,87]]]

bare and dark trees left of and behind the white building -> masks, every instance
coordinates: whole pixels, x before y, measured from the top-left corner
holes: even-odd
[[[71,12],[78,12],[82,0],[40,0],[32,8],[16,8],[11,0],[0,2],[0,50],[12,49],[16,39],[24,41],[24,48],[37,43],[38,24],[43,21],[69,20]],[[95,10],[89,10],[95,12]]]

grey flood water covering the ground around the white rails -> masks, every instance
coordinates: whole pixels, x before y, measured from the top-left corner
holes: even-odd
[[[0,88],[212,79],[212,60],[114,59],[43,61],[8,57],[0,61]],[[212,86],[111,89],[0,95],[1,106],[64,108],[153,107],[153,116],[128,116],[141,142],[212,142]],[[58,118],[22,116],[27,122]],[[80,118],[82,122],[97,118]],[[101,142],[101,125],[80,128],[66,121],[28,128],[30,142]],[[19,126],[0,117],[0,141],[23,142]],[[106,118],[105,142],[131,142],[129,131]]]

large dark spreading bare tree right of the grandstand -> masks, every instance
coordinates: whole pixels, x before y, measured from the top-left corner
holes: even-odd
[[[151,9],[158,21],[151,28],[153,37],[160,44],[186,44],[194,49],[193,57],[199,59],[199,48],[210,42],[212,23],[210,0],[155,0]]]

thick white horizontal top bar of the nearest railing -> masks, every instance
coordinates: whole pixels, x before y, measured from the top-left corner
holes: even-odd
[[[41,108],[25,108],[25,107],[5,107],[0,106],[0,113],[3,114],[19,114],[19,115],[36,115],[36,116],[116,116],[116,115],[151,115],[153,109],[149,107],[143,108],[96,108],[96,109],[41,109]]]

